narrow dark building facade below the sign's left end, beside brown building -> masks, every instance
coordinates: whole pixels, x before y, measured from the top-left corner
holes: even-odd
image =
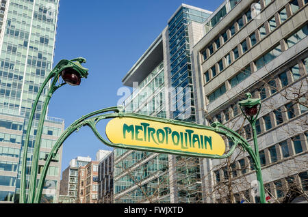
[[[98,203],[113,203],[114,190],[114,152],[99,162]]]

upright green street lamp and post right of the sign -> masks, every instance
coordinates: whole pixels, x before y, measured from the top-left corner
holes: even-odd
[[[246,93],[246,100],[240,101],[240,109],[246,119],[248,119],[251,127],[253,128],[253,143],[255,145],[255,169],[257,172],[257,181],[259,184],[259,192],[260,192],[260,201],[261,203],[266,203],[265,192],[264,192],[264,183],[261,173],[261,163],[259,156],[259,147],[257,143],[257,130],[256,130],[256,121],[257,117],[261,111],[261,99],[253,99],[251,98],[251,93]]]

